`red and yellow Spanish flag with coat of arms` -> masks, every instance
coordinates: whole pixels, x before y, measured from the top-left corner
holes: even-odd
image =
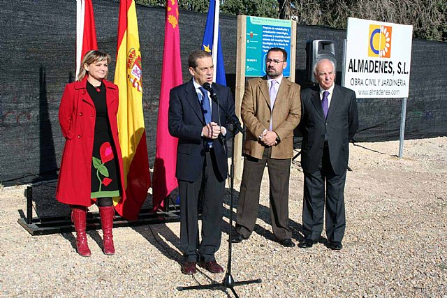
[[[142,113],[141,53],[135,1],[119,1],[117,65],[115,84],[119,88],[118,131],[124,165],[126,200],[114,198],[115,209],[134,220],[151,180],[145,120]]]

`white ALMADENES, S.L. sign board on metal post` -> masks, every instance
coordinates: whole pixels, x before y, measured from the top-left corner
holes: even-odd
[[[348,18],[344,87],[358,98],[406,98],[411,41],[408,25]]]

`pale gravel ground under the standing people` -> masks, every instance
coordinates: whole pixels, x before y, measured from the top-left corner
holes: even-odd
[[[347,227],[342,251],[323,243],[283,248],[274,241],[265,174],[254,234],[233,246],[240,297],[447,297],[447,137],[351,144],[346,181]],[[302,172],[291,174],[294,241],[302,239]],[[54,195],[55,183],[45,185]],[[236,184],[237,193],[239,184]],[[52,201],[53,202],[53,201]],[[228,202],[217,260],[228,258]],[[36,199],[36,210],[45,206]],[[59,208],[59,209],[58,209]],[[101,231],[89,231],[91,258],[75,253],[74,233],[31,236],[18,223],[24,187],[0,190],[1,297],[234,297],[230,290],[177,286],[220,283],[223,274],[180,273],[179,223],[115,228],[117,254],[101,252]],[[50,211],[66,212],[64,207]],[[65,211],[64,211],[65,210]],[[40,213],[41,214],[41,213]]]

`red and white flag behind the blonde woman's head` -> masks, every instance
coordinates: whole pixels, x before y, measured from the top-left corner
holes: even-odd
[[[82,58],[89,50],[98,50],[95,18],[91,0],[76,1],[76,78]]]

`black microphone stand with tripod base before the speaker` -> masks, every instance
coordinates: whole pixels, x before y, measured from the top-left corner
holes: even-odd
[[[207,83],[205,83],[207,84]],[[261,278],[252,279],[248,281],[235,281],[233,276],[231,276],[231,255],[232,255],[232,240],[233,240],[233,196],[234,196],[234,161],[235,161],[235,135],[237,133],[244,133],[245,129],[240,126],[240,122],[233,119],[231,115],[223,109],[221,104],[219,103],[219,98],[217,98],[217,94],[211,88],[210,84],[204,86],[207,91],[210,91],[211,99],[217,103],[219,108],[226,115],[227,119],[230,121],[230,125],[228,126],[228,130],[233,133],[233,140],[231,140],[231,165],[230,165],[230,236],[228,239],[228,262],[226,267],[226,274],[221,283],[213,283],[210,285],[192,285],[189,287],[177,287],[177,290],[202,290],[202,289],[214,289],[219,287],[228,288],[233,292],[236,298],[239,298],[234,287],[237,285],[248,285],[250,283],[262,283]],[[226,147],[226,139],[223,141],[223,145]],[[228,152],[228,151],[227,151]]]

